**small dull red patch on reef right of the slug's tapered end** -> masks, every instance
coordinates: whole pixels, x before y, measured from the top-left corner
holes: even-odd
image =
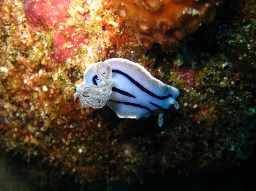
[[[176,70],[177,74],[184,80],[185,88],[190,88],[195,83],[195,70],[188,67]]]

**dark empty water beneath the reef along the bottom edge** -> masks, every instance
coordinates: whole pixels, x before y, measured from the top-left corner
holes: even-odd
[[[63,179],[61,184],[55,189],[48,185],[38,185],[34,182],[31,174],[24,173],[24,167],[21,170],[19,161],[6,158],[6,154],[0,152],[0,191],[80,191],[81,185],[73,180]],[[246,191],[256,188],[256,153],[254,152],[247,161],[241,161],[240,165],[229,165],[211,169],[211,171],[202,172],[192,169],[185,169],[183,172],[177,169],[170,169],[164,174],[156,172],[145,177],[144,183],[133,182],[129,184],[116,185],[112,187],[113,191],[142,191],[142,190],[172,190],[172,191]],[[105,187],[90,185],[84,190],[103,191]]]

